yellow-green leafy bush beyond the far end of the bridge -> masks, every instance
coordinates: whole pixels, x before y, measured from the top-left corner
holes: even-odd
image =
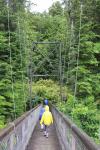
[[[64,93],[67,96],[67,88],[64,90]],[[39,99],[42,101],[45,98],[52,101],[52,103],[57,103],[60,101],[60,86],[52,80],[39,80],[36,83],[33,83],[32,91],[33,99],[36,95],[38,95]]]

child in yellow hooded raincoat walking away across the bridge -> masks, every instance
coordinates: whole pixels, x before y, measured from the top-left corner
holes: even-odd
[[[45,112],[42,115],[40,124],[44,124],[44,135],[48,138],[48,126],[53,124],[52,113],[49,111],[49,106],[45,106]]]

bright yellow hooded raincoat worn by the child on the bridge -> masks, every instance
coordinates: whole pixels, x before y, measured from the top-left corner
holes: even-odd
[[[51,112],[49,111],[49,106],[45,107],[45,112],[42,115],[40,124],[44,124],[47,126],[53,124],[53,117],[52,117]]]

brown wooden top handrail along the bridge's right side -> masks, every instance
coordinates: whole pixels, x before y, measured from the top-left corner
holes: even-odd
[[[99,150],[99,147],[95,144],[95,142],[91,139],[91,137],[89,137],[83,130],[78,128],[67,116],[65,116],[62,112],[60,112],[57,108],[55,108],[54,105],[51,104],[51,108],[55,110],[63,118],[67,126],[72,130],[72,132],[75,135],[77,135],[77,137],[85,145],[86,150]]]

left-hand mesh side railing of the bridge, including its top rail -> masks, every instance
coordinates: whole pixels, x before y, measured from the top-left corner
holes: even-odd
[[[39,119],[41,105],[24,113],[0,131],[0,150],[25,150]]]

